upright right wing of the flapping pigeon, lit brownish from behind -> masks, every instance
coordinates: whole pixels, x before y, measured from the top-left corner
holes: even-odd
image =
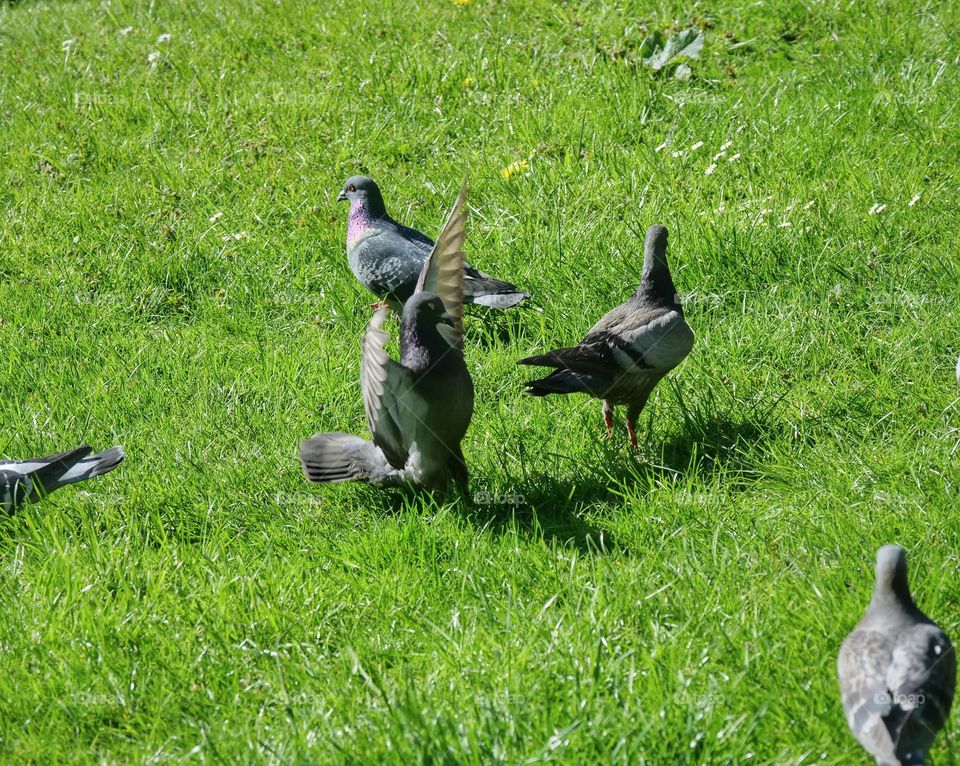
[[[447,222],[437,237],[433,250],[423,264],[416,292],[430,292],[440,297],[453,318],[453,332],[447,340],[460,348],[463,340],[463,242],[466,239],[467,186],[460,189]]]

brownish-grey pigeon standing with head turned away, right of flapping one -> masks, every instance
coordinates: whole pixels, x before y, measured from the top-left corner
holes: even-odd
[[[602,399],[608,438],[613,432],[614,406],[627,405],[627,433],[636,447],[637,418],[650,392],[692,347],[693,331],[683,318],[667,266],[667,230],[651,226],[636,294],[608,312],[579,345],[529,356],[517,364],[556,368],[526,384],[531,396],[579,392]]]

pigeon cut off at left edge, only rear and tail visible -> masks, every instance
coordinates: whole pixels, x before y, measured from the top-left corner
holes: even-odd
[[[46,497],[55,489],[108,473],[123,462],[123,448],[111,447],[90,454],[84,444],[58,455],[0,462],[0,509],[13,513],[27,503]]]

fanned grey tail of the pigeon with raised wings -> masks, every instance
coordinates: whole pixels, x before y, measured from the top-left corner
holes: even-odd
[[[300,464],[307,481],[366,481],[387,484],[397,471],[373,442],[341,433],[315,434],[300,444]]]

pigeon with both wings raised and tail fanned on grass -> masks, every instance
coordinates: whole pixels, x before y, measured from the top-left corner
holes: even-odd
[[[473,415],[473,381],[463,358],[465,205],[466,187],[403,307],[399,363],[384,349],[385,307],[363,336],[360,385],[372,441],[343,433],[307,439],[300,462],[309,481],[466,487],[460,441]]]

